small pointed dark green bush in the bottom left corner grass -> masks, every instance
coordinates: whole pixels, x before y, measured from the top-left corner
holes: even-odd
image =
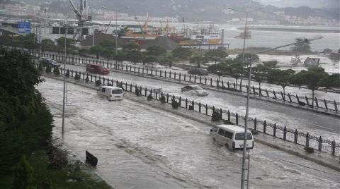
[[[33,181],[33,168],[26,160],[26,157],[21,157],[18,164],[13,166],[13,188],[29,188]]]

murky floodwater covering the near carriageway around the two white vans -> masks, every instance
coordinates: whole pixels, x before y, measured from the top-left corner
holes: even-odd
[[[62,82],[38,86],[55,114],[60,137]],[[126,94],[133,95],[133,94]],[[239,188],[240,152],[212,142],[210,126],[95,90],[68,85],[64,144],[81,159],[98,157],[96,171],[114,188]],[[255,144],[251,188],[339,188],[339,172]]]

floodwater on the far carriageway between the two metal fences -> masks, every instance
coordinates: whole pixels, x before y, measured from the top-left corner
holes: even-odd
[[[74,71],[85,71],[84,66],[67,65],[67,68]],[[129,75],[125,73],[111,72],[109,78],[115,80],[123,80],[124,82],[142,85],[148,88],[162,88],[162,91],[181,96],[183,98],[193,99],[195,102],[202,102],[222,108],[230,109],[232,112],[237,112],[241,115],[246,111],[246,98],[231,94],[209,90],[208,97],[198,97],[190,92],[181,92],[181,87],[185,84],[169,83],[164,80],[152,78],[143,78],[137,75]],[[318,114],[303,109],[296,109],[290,106],[263,102],[261,100],[251,99],[249,115],[252,118],[272,121],[281,126],[288,128],[310,132],[312,135],[322,135],[323,138],[338,139],[340,138],[340,118]]]

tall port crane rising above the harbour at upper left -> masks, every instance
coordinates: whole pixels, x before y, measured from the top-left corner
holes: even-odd
[[[79,37],[80,39],[84,39],[84,35],[89,34],[89,21],[92,20],[92,17],[89,16],[89,4],[87,0],[80,0],[80,6],[74,4],[72,0],[69,0],[74,13],[76,13],[76,17],[78,20],[78,27],[76,32],[74,32],[74,38]]]

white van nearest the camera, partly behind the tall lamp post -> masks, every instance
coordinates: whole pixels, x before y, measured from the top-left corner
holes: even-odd
[[[225,145],[232,150],[243,149],[244,128],[235,125],[217,125],[210,129],[210,136],[212,139]],[[253,149],[254,138],[250,130],[247,131],[246,148]]]

